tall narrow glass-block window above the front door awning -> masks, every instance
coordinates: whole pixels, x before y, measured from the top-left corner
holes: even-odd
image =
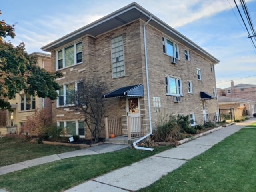
[[[112,54],[112,77],[118,78],[124,76],[124,48],[123,36],[111,39]]]

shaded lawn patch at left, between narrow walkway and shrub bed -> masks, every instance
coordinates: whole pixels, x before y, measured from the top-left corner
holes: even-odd
[[[0,167],[80,148],[34,144],[21,138],[0,138]]]

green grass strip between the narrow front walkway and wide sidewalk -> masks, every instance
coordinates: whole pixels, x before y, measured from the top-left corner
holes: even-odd
[[[0,188],[10,192],[60,192],[169,148],[161,146],[153,152],[125,149],[42,164],[0,176]]]

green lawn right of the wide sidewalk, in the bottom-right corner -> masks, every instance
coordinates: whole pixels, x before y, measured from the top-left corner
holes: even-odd
[[[256,123],[140,192],[255,192]]]

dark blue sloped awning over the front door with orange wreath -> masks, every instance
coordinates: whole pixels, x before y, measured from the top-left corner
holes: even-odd
[[[111,97],[144,97],[143,84],[118,88],[105,94],[102,98]]]

